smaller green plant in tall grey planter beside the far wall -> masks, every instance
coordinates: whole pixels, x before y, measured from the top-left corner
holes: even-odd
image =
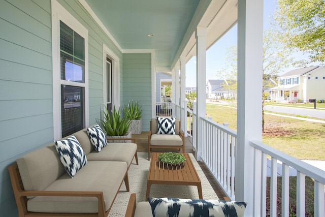
[[[127,106],[124,106],[124,112],[127,113],[127,117],[131,120],[130,130],[133,134],[141,134],[142,132],[142,106],[139,106],[138,101],[128,102]]]

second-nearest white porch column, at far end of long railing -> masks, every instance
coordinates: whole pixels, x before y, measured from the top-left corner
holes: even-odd
[[[205,99],[205,82],[206,82],[206,38],[207,28],[197,27],[197,129],[196,129],[196,159],[201,160],[202,144],[202,126],[200,117],[206,117],[206,99]]]

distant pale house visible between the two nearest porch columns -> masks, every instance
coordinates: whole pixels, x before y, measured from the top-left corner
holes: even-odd
[[[236,82],[236,80],[231,81]],[[224,84],[228,85],[224,79],[208,80],[206,97],[209,99],[237,99],[237,91],[225,89]]]

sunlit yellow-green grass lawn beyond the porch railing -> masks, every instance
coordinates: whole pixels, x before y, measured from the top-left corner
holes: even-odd
[[[207,116],[237,130],[237,109],[207,104]],[[262,123],[261,123],[262,124]],[[286,136],[263,136],[262,142],[300,160],[325,160],[325,124],[293,118],[265,115],[265,129],[289,131]]]

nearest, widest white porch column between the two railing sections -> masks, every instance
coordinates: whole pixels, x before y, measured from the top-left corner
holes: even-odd
[[[238,109],[236,200],[248,202],[244,216],[261,216],[254,194],[254,150],[262,141],[263,1],[238,1]],[[260,171],[256,171],[259,173]],[[256,202],[256,203],[255,203]],[[259,201],[261,203],[261,201]],[[259,206],[259,207],[258,207]]]

